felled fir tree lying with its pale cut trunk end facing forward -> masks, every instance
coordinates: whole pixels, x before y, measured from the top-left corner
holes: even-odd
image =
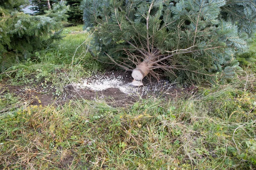
[[[201,81],[239,68],[255,31],[256,2],[239,0],[83,0],[85,27],[95,32],[99,57],[175,81]],[[136,69],[134,69],[136,67]]]

